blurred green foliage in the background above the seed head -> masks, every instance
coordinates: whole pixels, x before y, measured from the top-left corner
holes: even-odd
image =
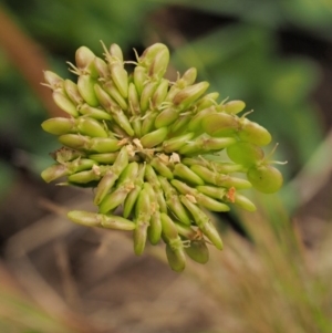
[[[186,30],[180,24],[174,27],[172,20],[163,22],[164,25],[158,23],[156,18],[165,11],[168,11],[169,19],[169,12],[172,17],[184,8],[200,15],[211,15],[214,22],[219,23],[212,29],[201,25],[201,32],[199,21],[186,22]],[[248,111],[255,110],[250,119],[271,132],[274,143],[280,144],[276,159],[288,160],[288,165],[280,167],[286,178],[280,199],[291,210],[300,205],[298,194],[289,186],[297,175],[310,163],[330,168],[323,160],[325,154],[330,154],[326,150],[312,162],[329,129],[326,114],[330,110],[320,108],[314,100],[323,77],[321,64],[305,54],[283,52],[280,35],[295,31],[330,44],[331,1],[32,0],[22,6],[19,0],[2,0],[0,10],[4,10],[27,35],[40,44],[49,69],[63,76],[68,75],[65,61],[73,61],[74,52],[81,45],[101,54],[100,40],[106,45],[115,42],[133,58],[132,48],[141,50],[155,41],[168,44],[174,67],[184,71],[196,66],[199,80],[209,81],[210,91],[220,92],[220,100],[243,100]],[[195,33],[190,33],[191,30]],[[13,156],[9,160],[3,152],[23,152],[29,160],[28,168],[35,178],[50,165],[48,154],[56,143],[40,127],[46,117],[41,101],[0,44],[2,201],[18,177],[13,165],[21,163]],[[268,149],[271,150],[272,146]],[[310,169],[309,174],[314,171]],[[331,329],[328,324],[321,327],[325,327],[321,332]]]

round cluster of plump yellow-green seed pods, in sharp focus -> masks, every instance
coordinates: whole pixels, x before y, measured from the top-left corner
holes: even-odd
[[[137,55],[132,73],[117,44],[104,51],[104,59],[85,46],[76,51],[76,64],[70,64],[76,83],[44,72],[54,102],[70,117],[42,124],[63,145],[42,177],[94,189],[97,212],[70,211],[72,221],[132,231],[137,256],[147,241],[162,240],[176,271],[185,268],[186,253],[205,263],[207,243],[222,249],[207,211],[232,205],[253,211],[242,189],[281,187],[280,171],[261,148],[271,135],[249,113],[238,116],[243,102],[206,94],[209,83],[195,83],[195,67],[175,82],[165,79],[166,45]]]

